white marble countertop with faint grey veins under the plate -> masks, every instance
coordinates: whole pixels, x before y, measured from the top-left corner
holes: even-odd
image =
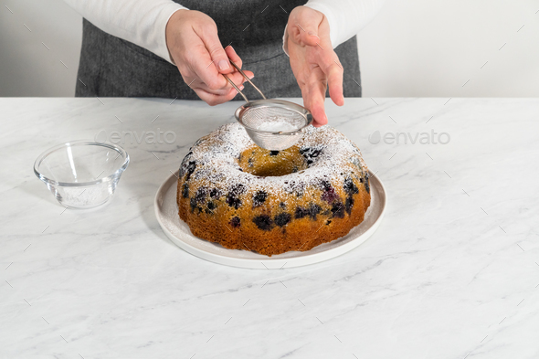
[[[0,99],[1,358],[539,356],[539,100],[328,103],[386,185],[386,217],[339,258],[278,270],[165,237],[157,188],[239,105],[170,102]],[[65,210],[37,155],[113,131],[144,136],[122,137],[132,162],[116,195]],[[149,131],[176,138],[145,143]]]

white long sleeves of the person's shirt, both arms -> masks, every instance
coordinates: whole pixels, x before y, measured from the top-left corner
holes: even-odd
[[[170,17],[185,6],[172,0],[65,0],[93,25],[174,63],[166,47]],[[384,0],[309,0],[330,25],[333,48],[354,37],[376,15]],[[284,38],[284,37],[283,37]],[[286,49],[283,48],[286,52]]]

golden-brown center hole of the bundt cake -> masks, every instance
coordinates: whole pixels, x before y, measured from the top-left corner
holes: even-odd
[[[298,146],[275,153],[254,145],[243,151],[239,158],[238,165],[244,172],[261,177],[293,174],[307,168]]]

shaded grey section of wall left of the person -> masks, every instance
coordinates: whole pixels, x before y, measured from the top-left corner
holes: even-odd
[[[0,0],[0,96],[73,96],[81,36],[61,0]]]

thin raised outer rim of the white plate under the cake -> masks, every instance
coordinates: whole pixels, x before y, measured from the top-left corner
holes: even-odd
[[[357,238],[354,238],[353,240],[347,243],[343,243],[343,245],[338,246],[336,248],[331,248],[331,249],[324,250],[318,253],[303,255],[297,258],[281,259],[281,258],[268,257],[268,259],[241,259],[241,258],[228,257],[228,256],[216,254],[216,253],[211,253],[200,248],[196,248],[192,246],[191,244],[185,242],[184,240],[180,238],[176,238],[176,236],[174,236],[174,234],[171,233],[169,229],[164,225],[164,222],[162,221],[161,214],[160,214],[162,213],[160,209],[162,207],[163,201],[161,201],[162,203],[160,204],[159,203],[160,198],[164,198],[164,194],[169,190],[170,185],[173,185],[174,182],[177,182],[179,178],[178,174],[179,174],[179,170],[169,175],[164,180],[164,182],[159,186],[153,198],[153,213],[155,214],[155,217],[157,218],[157,222],[159,223],[159,226],[164,231],[164,234],[166,235],[166,237],[169,238],[174,243],[174,245],[185,250],[185,252],[199,259],[205,259],[210,262],[214,262],[217,264],[226,265],[230,267],[244,268],[244,269],[282,269],[286,264],[290,263],[290,265],[286,267],[288,269],[288,268],[293,268],[293,267],[301,267],[301,266],[306,266],[310,264],[320,263],[322,261],[329,260],[329,259],[334,259],[360,246],[368,238],[370,238],[375,233],[376,229],[380,226],[380,223],[382,222],[386,214],[386,208],[387,208],[386,187],[384,186],[382,181],[380,181],[380,178],[376,176],[376,174],[373,174],[370,170],[368,170],[369,180],[375,179],[375,182],[377,183],[377,185],[379,185],[382,198],[377,198],[377,199],[380,201],[380,206],[382,207],[382,209],[381,209],[380,215],[375,219],[375,222],[373,223],[373,225],[371,227],[368,227],[362,235],[358,236]],[[171,181],[173,182],[173,184],[170,184]],[[165,187],[166,187],[166,191],[164,191]],[[373,185],[371,185],[371,188],[373,188]],[[193,236],[193,237],[197,238],[196,236]],[[363,238],[363,240],[357,241],[356,239],[358,238]],[[198,239],[204,240],[201,238],[198,238]],[[230,250],[233,250],[233,249],[230,249]],[[291,261],[293,262],[291,263]],[[255,263],[259,265],[254,266]]]

